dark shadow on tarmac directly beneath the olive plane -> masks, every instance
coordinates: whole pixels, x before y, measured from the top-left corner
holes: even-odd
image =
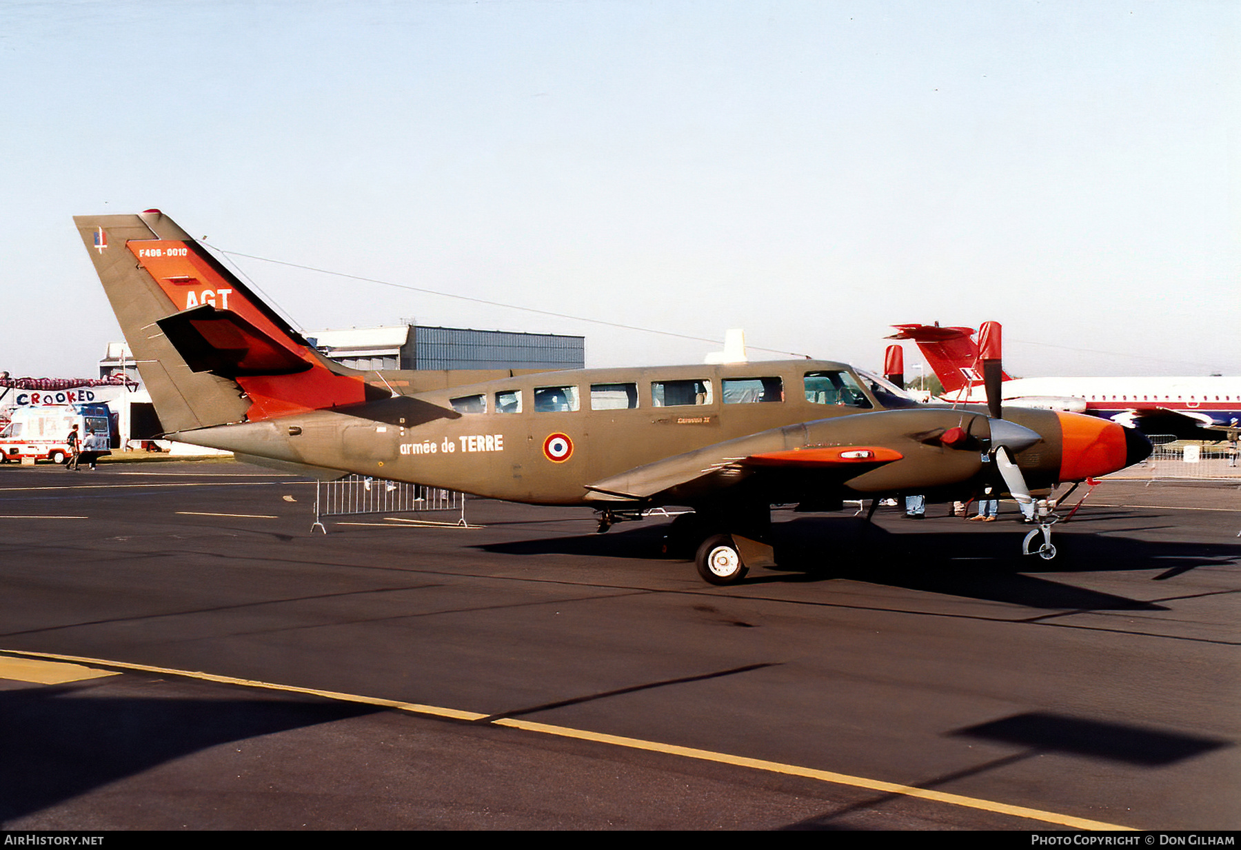
[[[1136,519],[1127,514],[1129,519]],[[1139,517],[1138,517],[1139,519]],[[903,524],[906,520],[898,520]],[[751,573],[733,587],[774,582],[820,582],[849,578],[872,584],[946,593],[1054,611],[1165,611],[1164,606],[1128,599],[1051,581],[1047,573],[1153,571],[1169,578],[1200,566],[1241,563],[1241,544],[1149,541],[1128,536],[1132,527],[1101,534],[1097,525],[1059,525],[1052,561],[1020,553],[1029,526],[1011,520],[990,525],[941,519],[908,521],[918,534],[865,527],[856,517],[798,517],[774,522],[779,566]],[[980,527],[982,526],[982,527]],[[669,561],[660,553],[668,525],[643,525],[571,537],[488,544],[479,548],[508,555],[580,555]],[[1076,529],[1076,530],[1075,530]],[[679,566],[684,565],[678,561]],[[571,570],[566,565],[566,570]],[[1031,575],[1040,573],[1040,575]]]

